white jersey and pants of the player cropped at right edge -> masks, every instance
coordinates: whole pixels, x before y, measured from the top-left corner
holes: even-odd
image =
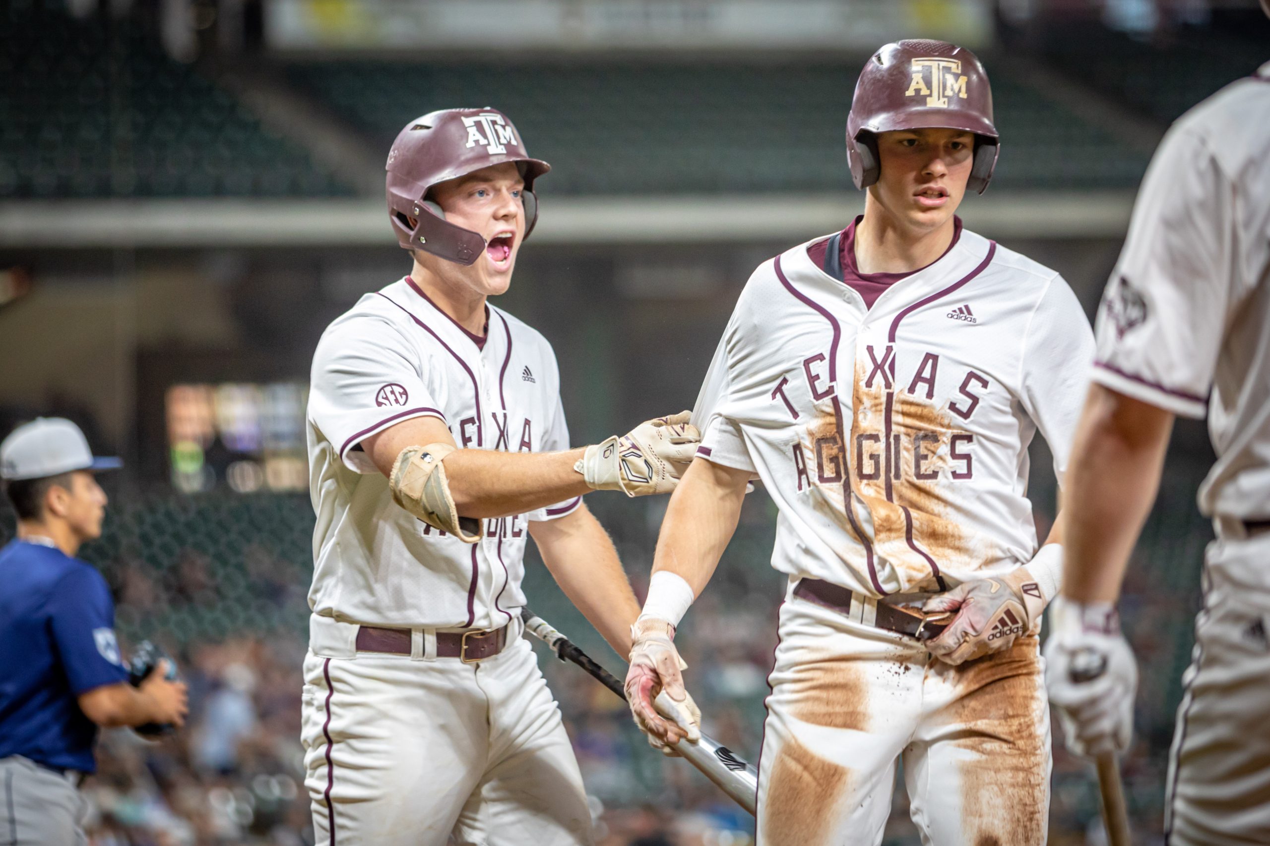
[[[1208,412],[1217,517],[1170,752],[1166,840],[1270,842],[1270,63],[1182,115],[1138,193],[1097,318],[1093,379]]]

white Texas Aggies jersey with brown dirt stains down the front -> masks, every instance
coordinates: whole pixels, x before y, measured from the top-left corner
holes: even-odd
[[[742,292],[698,454],[763,481],[776,569],[869,596],[952,587],[1035,553],[1027,444],[1039,429],[1062,478],[1092,350],[1059,274],[972,232],[867,309],[804,244]]]

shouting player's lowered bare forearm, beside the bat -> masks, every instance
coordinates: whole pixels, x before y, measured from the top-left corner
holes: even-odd
[[[617,549],[594,515],[580,506],[549,523],[531,523],[530,535],[569,601],[622,658],[630,654],[639,601]]]

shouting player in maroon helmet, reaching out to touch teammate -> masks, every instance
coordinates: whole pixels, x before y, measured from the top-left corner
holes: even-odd
[[[411,120],[387,159],[410,275],[318,344],[304,743],[319,843],[592,842],[519,637],[525,545],[625,654],[639,605],[582,495],[667,492],[698,439],[683,412],[569,449],[551,345],[486,302],[547,170],[494,109]]]

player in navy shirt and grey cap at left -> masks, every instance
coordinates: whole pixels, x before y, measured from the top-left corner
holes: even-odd
[[[18,515],[17,539],[0,549],[0,842],[86,845],[79,785],[97,770],[98,726],[185,717],[185,685],[164,679],[166,668],[128,682],[110,590],[75,558],[102,534],[107,498],[94,473],[117,467],[60,417],[19,426],[0,444],[0,479]]]

